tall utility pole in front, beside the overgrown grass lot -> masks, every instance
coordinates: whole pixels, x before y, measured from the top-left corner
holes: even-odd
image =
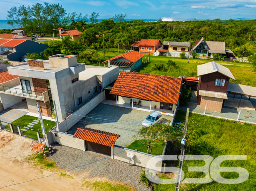
[[[187,108],[184,136],[181,141],[180,165],[179,165],[175,191],[180,191],[180,181],[181,181],[182,167],[183,167],[184,156],[185,156],[185,146],[186,146],[186,138],[187,138],[187,130],[188,130],[188,115],[189,115],[189,108]]]

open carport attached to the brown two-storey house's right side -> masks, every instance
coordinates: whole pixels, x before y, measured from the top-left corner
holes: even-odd
[[[256,87],[241,85],[241,84],[228,84],[228,100],[225,100],[224,106],[242,108],[247,110],[255,110],[251,97],[256,97]],[[240,98],[236,98],[236,96]]]

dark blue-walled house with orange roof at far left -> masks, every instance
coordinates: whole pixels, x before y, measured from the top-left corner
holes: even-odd
[[[27,53],[40,53],[48,45],[28,39],[0,39],[0,58],[10,61],[21,61]]]

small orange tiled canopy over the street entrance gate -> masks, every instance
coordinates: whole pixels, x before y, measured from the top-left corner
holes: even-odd
[[[113,147],[120,135],[83,127],[77,128],[73,137],[108,147]]]

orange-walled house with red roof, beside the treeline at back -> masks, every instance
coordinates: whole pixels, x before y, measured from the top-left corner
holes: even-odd
[[[140,53],[154,54],[161,45],[162,43],[159,39],[141,39],[140,41],[135,41],[131,47],[132,50],[139,51]]]

